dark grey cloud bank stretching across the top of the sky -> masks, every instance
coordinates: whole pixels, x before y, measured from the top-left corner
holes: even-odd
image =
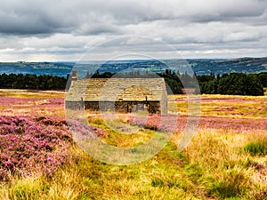
[[[0,7],[0,32],[47,34],[78,32],[117,33],[124,25],[154,20],[187,22],[227,21],[261,16],[266,1],[4,1]],[[83,29],[87,24],[89,29]]]

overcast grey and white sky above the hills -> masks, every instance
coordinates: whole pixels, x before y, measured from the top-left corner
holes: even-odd
[[[0,0],[0,61],[265,57],[266,7],[267,0]]]

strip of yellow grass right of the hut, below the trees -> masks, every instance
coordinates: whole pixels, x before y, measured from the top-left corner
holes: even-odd
[[[188,98],[184,95],[169,97],[168,110],[178,111],[182,115],[188,114]],[[176,101],[174,101],[176,100]],[[201,102],[201,116],[225,116],[236,118],[266,118],[267,96],[231,96],[209,94],[199,96]]]

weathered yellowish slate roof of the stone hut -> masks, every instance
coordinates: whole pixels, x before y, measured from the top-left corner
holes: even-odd
[[[91,78],[71,82],[66,100],[161,100],[164,78]]]

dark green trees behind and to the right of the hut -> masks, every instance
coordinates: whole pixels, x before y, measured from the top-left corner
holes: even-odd
[[[88,74],[87,78],[110,78],[110,77],[163,77],[168,85],[168,93],[182,94],[182,88],[195,88],[197,85],[196,78],[201,93],[206,94],[229,94],[229,95],[263,95],[263,87],[267,87],[267,72],[259,74],[231,73],[222,76],[214,74],[190,76],[187,72],[180,74],[170,69],[166,69],[164,73],[150,74],[148,72],[141,74],[139,71],[129,72],[125,74],[113,74],[105,72],[100,74],[96,72],[92,75]]]

